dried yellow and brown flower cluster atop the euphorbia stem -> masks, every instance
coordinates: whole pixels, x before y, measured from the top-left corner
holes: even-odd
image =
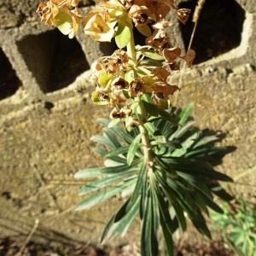
[[[149,94],[159,108],[165,108],[169,97],[178,90],[168,84],[170,74],[179,70],[178,60],[190,67],[195,52],[186,55],[174,47],[166,33],[172,26],[166,15],[174,11],[183,22],[188,20],[189,9],[177,9],[173,0],[96,0],[97,7],[83,17],[79,0],[49,0],[40,3],[38,15],[49,26],[73,38],[82,26],[84,33],[97,41],[109,42],[115,38],[119,49],[113,55],[97,60],[93,67],[96,90],[92,100],[99,105],[109,105],[119,112],[113,118],[131,115],[138,96]],[[135,46],[133,28],[146,37],[143,46]],[[127,51],[125,51],[127,47]]]

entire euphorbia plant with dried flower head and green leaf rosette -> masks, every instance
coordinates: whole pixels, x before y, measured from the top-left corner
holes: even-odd
[[[78,210],[123,195],[125,203],[109,220],[102,241],[125,234],[139,215],[143,256],[158,254],[159,230],[172,255],[172,234],[179,227],[186,230],[187,217],[210,237],[202,212],[208,213],[207,207],[222,212],[213,195],[230,199],[218,183],[230,177],[211,164],[223,152],[212,146],[218,137],[207,137],[194,127],[190,105],[183,110],[172,107],[172,95],[179,88],[169,84],[168,77],[178,72],[180,61],[190,67],[195,51],[182,55],[172,45],[166,33],[172,24],[166,15],[174,13],[185,23],[189,12],[177,9],[172,0],[98,0],[85,17],[79,12],[79,0],[49,0],[38,8],[41,20],[69,38],[82,26],[97,41],[114,38],[119,48],[91,67],[96,84],[92,101],[109,106],[111,113],[109,120],[100,119],[103,136],[92,137],[102,144],[96,152],[106,159],[105,166],[75,175],[97,178],[81,189],[81,195],[93,195]],[[135,44],[135,29],[145,37],[145,45]]]

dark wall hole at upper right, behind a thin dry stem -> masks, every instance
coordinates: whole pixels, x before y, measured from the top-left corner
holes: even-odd
[[[179,4],[179,8],[192,9],[188,23],[180,25],[186,49],[194,23],[192,16],[197,0]],[[207,0],[202,9],[195,32],[192,49],[196,51],[195,64],[224,54],[241,44],[241,32],[245,20],[245,11],[235,0]]]

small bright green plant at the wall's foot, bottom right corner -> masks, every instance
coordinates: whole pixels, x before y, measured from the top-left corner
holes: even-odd
[[[256,254],[256,205],[237,198],[222,203],[224,214],[212,212],[212,225],[221,230],[224,240],[239,256]]]

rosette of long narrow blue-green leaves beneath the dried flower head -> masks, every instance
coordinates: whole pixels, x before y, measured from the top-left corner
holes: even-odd
[[[124,235],[137,214],[142,220],[143,255],[157,255],[160,226],[168,255],[172,255],[172,234],[178,228],[186,230],[187,215],[197,230],[211,237],[203,213],[208,214],[208,207],[223,212],[213,201],[214,195],[227,201],[231,199],[218,183],[231,181],[230,177],[212,167],[226,148],[212,146],[218,136],[207,136],[197,129],[189,117],[190,111],[191,106],[183,111],[171,108],[162,114],[165,119],[160,115],[148,119],[145,126],[154,155],[151,166],[143,161],[137,127],[131,131],[127,131],[125,125],[109,128],[108,119],[99,120],[104,126],[103,136],[92,137],[92,140],[102,145],[96,152],[105,158],[105,166],[76,173],[77,178],[97,177],[80,190],[80,195],[89,196],[79,204],[78,210],[95,206],[113,195],[128,196],[109,220],[102,241]]]

